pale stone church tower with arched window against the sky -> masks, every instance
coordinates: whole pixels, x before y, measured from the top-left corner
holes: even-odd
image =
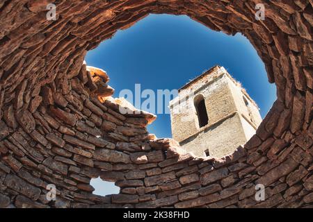
[[[223,157],[255,134],[259,108],[224,67],[215,66],[170,101],[172,137],[198,156]]]

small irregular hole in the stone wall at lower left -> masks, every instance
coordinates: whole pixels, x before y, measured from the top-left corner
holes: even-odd
[[[95,190],[93,191],[93,194],[96,194],[99,196],[106,196],[109,194],[120,193],[120,187],[115,186],[114,182],[104,181],[100,177],[91,179],[90,185],[92,185],[93,188],[95,188]]]

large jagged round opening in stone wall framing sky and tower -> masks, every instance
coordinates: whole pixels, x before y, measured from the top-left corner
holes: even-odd
[[[124,97],[136,108],[157,115],[147,128],[150,133],[173,137],[200,156],[230,138],[233,142],[223,146],[245,144],[276,99],[275,85],[268,83],[264,63],[245,36],[211,31],[186,15],[149,15],[88,51],[86,63],[111,77],[113,97]],[[216,65],[220,70],[214,70]],[[202,80],[197,78],[201,74]],[[199,128],[192,102],[187,101],[187,108],[182,108],[182,101],[169,107],[177,96],[184,100],[177,89],[186,85],[194,96],[205,94],[207,126]],[[188,112],[182,118],[179,111]],[[224,128],[231,135],[213,142],[211,137]],[[203,145],[199,151],[188,148],[197,144]],[[218,147],[214,149],[220,151],[210,153],[220,157],[232,153],[232,148]]]

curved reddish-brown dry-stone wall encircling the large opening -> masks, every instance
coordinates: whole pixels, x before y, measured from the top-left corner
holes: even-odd
[[[47,3],[56,21],[47,21]],[[264,3],[266,19],[255,20]],[[0,207],[312,207],[312,0],[0,2]],[[220,160],[182,153],[122,115],[108,76],[86,71],[86,51],[149,13],[188,15],[246,35],[278,100],[257,134]],[[100,98],[101,99],[101,98]],[[100,137],[99,137],[100,136]],[[120,194],[92,194],[90,178]],[[56,185],[48,201],[46,185]],[[254,198],[255,184],[266,200]]]

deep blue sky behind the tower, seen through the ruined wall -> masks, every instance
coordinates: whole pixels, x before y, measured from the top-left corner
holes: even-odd
[[[86,62],[109,74],[114,97],[122,89],[134,91],[138,83],[154,92],[179,89],[221,65],[257,102],[262,118],[276,99],[275,85],[268,83],[264,63],[246,37],[211,31],[186,16],[150,15],[89,51]],[[172,137],[170,114],[158,114],[148,130],[159,138]]]

